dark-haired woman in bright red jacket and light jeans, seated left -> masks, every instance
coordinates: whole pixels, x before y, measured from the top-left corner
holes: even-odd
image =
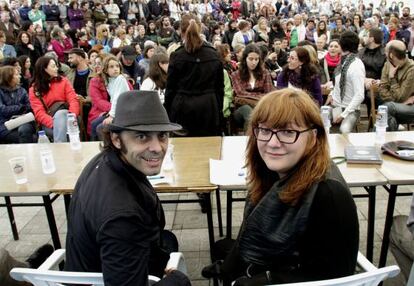
[[[79,99],[69,80],[58,75],[55,59],[41,57],[36,62],[29,99],[36,122],[53,136],[54,142],[67,142],[67,114],[79,115]]]

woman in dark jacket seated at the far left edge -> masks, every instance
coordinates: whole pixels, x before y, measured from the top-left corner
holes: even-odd
[[[35,126],[32,122],[21,121],[19,126],[10,128],[8,122],[31,113],[29,97],[20,86],[20,73],[12,66],[0,68],[0,141],[4,143],[35,142]],[[33,115],[32,115],[33,116]],[[28,116],[30,117],[30,115]],[[7,128],[6,126],[9,126]],[[9,130],[10,129],[10,130]]]

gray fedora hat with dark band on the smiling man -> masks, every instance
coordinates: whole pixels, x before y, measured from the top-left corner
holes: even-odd
[[[115,118],[109,130],[177,131],[181,125],[171,123],[156,91],[132,90],[122,93],[116,104]]]

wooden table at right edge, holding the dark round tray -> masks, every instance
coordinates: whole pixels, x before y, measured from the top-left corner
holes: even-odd
[[[375,133],[351,133],[347,140],[352,145],[367,146],[375,142]],[[385,141],[407,140],[414,142],[414,131],[387,132]],[[411,193],[397,194],[399,185],[414,185],[414,162],[404,161],[390,155],[383,155],[383,164],[376,165],[377,169],[387,179],[389,186],[384,186],[388,192],[387,214],[385,217],[384,235],[381,245],[379,267],[385,266],[389,246],[389,235],[392,226],[392,219],[397,195],[411,195]]]

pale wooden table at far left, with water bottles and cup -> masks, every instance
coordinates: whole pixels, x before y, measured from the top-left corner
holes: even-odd
[[[46,211],[50,233],[55,248],[61,248],[59,234],[56,227],[52,203],[58,195],[51,194],[51,190],[62,187],[72,188],[75,185],[78,174],[85,164],[96,154],[99,149],[96,143],[84,143],[80,151],[72,151],[68,143],[50,144],[54,154],[56,172],[50,175],[42,173],[40,163],[39,146],[37,144],[9,144],[0,145],[0,196],[5,198],[6,206],[13,238],[19,238],[16,223],[14,220],[13,207],[43,206]],[[28,170],[28,182],[17,185],[10,170],[8,160],[15,156],[25,156]],[[12,203],[11,197],[39,197],[42,203]]]

